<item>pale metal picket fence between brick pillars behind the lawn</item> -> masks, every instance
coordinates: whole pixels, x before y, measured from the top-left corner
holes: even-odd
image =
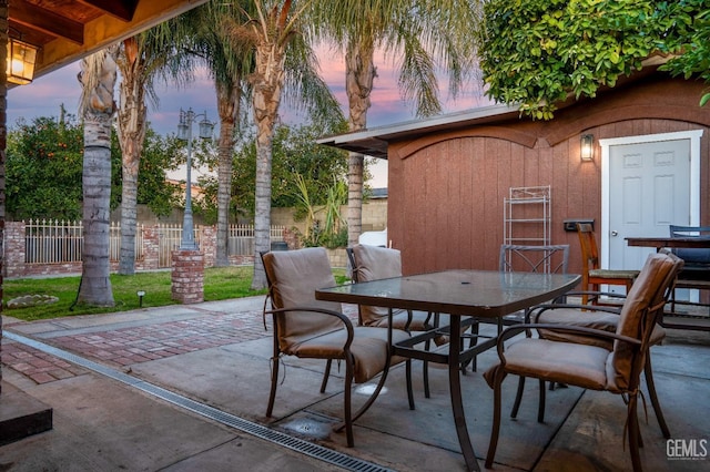
[[[135,260],[144,257],[144,225],[135,229]],[[271,227],[271,242],[284,240],[285,226]],[[110,258],[119,260],[121,252],[121,224],[110,226]],[[201,244],[202,228],[195,227],[195,242]],[[182,240],[181,225],[156,225],[159,267],[170,267],[171,252],[180,247]],[[83,247],[82,222],[64,222],[58,219],[30,219],[24,225],[24,263],[26,264],[62,264],[81,261]],[[254,254],[254,226],[231,225],[229,228],[229,254],[245,256]]]

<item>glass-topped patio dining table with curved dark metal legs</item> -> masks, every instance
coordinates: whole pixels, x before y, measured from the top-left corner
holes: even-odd
[[[448,365],[448,383],[456,434],[467,470],[478,471],[470,443],[462,399],[459,366],[495,346],[496,339],[465,348],[462,327],[474,318],[500,320],[503,316],[558,297],[579,284],[572,274],[503,273],[490,270],[445,270],[395,277],[316,290],[321,300],[355,305],[404,308],[449,315],[448,352],[416,349],[419,342],[438,336],[435,329],[393,346],[393,355]],[[473,318],[470,318],[473,317]]]

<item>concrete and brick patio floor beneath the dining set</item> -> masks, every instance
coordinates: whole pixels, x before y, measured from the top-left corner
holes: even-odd
[[[272,338],[262,307],[263,297],[254,297],[36,322],[3,317],[0,410],[9,396],[29,396],[53,409],[53,429],[0,447],[0,471],[464,470],[447,372],[439,367],[430,368],[426,399],[415,362],[414,411],[404,368],[394,368],[386,392],[356,422],[355,448],[333,431],[342,415],[343,382],[334,368],[321,394],[322,361],[283,360],[274,417],[266,418]],[[354,307],[346,308],[354,317]],[[710,334],[669,330],[652,360],[674,444],[698,448],[694,460],[669,456],[649,402],[648,422],[640,408],[645,470],[707,470]],[[481,469],[493,392],[480,373],[494,361],[495,352],[479,356],[478,371],[462,381]],[[630,470],[620,397],[556,389],[548,392],[540,424],[536,382],[528,382],[518,419],[507,418],[516,386],[513,378],[504,383],[495,470]],[[310,444],[316,458],[297,452]]]

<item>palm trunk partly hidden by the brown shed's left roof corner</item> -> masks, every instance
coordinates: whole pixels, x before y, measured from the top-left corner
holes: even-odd
[[[374,60],[375,48],[372,38],[351,43],[345,54],[345,88],[349,106],[349,131],[367,126],[367,110],[371,106],[369,92],[377,75]],[[348,154],[347,165],[347,244],[354,246],[363,232],[363,173],[364,156]]]

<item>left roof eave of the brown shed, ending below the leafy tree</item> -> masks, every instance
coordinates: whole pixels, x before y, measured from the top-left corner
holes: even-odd
[[[481,106],[479,109],[438,115],[430,119],[407,121],[364,131],[325,136],[316,142],[372,157],[387,158],[387,146],[392,142],[433,132],[454,131],[473,125],[517,119],[519,114],[520,112],[517,106]]]

